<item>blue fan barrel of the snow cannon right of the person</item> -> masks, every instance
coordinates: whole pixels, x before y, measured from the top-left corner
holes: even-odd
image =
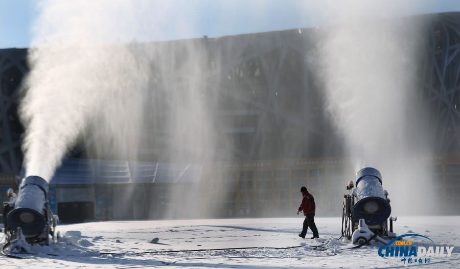
[[[366,225],[377,225],[386,221],[392,208],[385,197],[380,172],[366,167],[358,171],[355,180],[353,193],[357,202],[353,207],[354,218],[364,219]]]

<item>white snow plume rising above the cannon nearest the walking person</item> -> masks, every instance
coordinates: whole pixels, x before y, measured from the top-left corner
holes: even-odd
[[[413,213],[423,208],[415,208],[418,202],[426,205],[423,201],[429,200],[420,188],[413,189],[427,182],[420,177],[427,175],[420,173],[424,165],[407,159],[429,154],[415,88],[421,26],[413,19],[366,18],[371,5],[374,2],[340,5],[335,14],[340,24],[328,27],[325,43],[318,44],[321,77],[330,115],[348,155],[356,160],[355,170],[379,169],[383,187],[396,198],[394,211]],[[414,200],[417,203],[409,202]]]

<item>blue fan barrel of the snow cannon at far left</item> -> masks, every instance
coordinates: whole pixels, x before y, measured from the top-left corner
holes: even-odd
[[[26,236],[38,235],[45,229],[43,210],[47,203],[48,182],[38,176],[22,180],[14,209],[8,213],[8,225],[22,229]]]

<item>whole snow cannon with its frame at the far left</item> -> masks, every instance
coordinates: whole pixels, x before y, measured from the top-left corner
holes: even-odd
[[[25,238],[28,243],[48,242],[55,216],[48,204],[48,182],[38,176],[22,180],[14,199],[5,204],[7,241]],[[51,227],[52,226],[52,227]]]

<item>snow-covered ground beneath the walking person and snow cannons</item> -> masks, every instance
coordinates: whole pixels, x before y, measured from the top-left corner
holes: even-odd
[[[397,235],[434,241],[403,238],[413,246],[455,246],[450,257],[422,257],[421,263],[380,257],[379,242],[349,249],[347,240],[336,239],[341,218],[315,219],[315,240],[297,236],[301,216],[58,225],[66,239],[33,247],[36,254],[23,255],[28,259],[0,256],[0,268],[460,268],[460,216],[398,217]]]

